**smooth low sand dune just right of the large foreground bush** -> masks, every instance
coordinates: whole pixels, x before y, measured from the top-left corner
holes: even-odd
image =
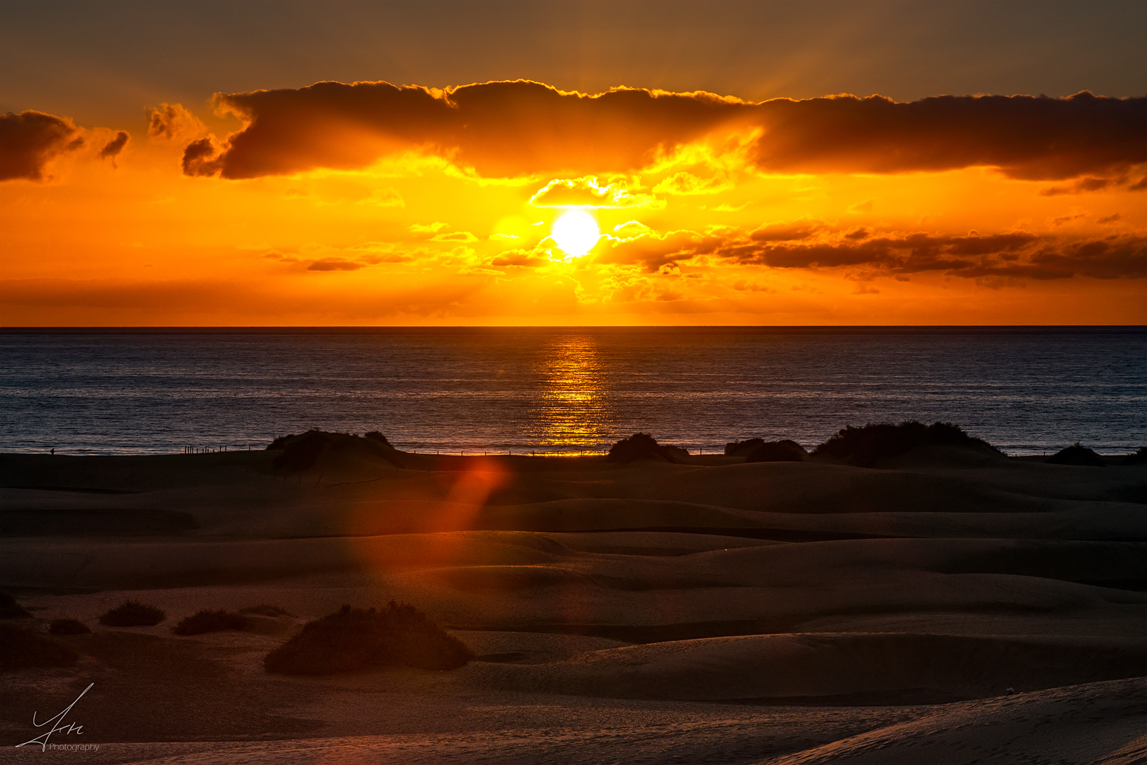
[[[627,646],[514,669],[498,681],[590,696],[920,704],[1140,677],[1147,647],[1131,638],[805,633]]]

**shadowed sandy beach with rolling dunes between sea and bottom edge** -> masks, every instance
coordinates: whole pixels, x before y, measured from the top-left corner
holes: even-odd
[[[392,452],[0,458],[9,623],[93,630],[57,638],[75,666],[3,676],[0,757],[75,756],[11,747],[88,684],[71,716],[115,763],[1147,754],[1141,466]],[[126,599],[166,619],[96,623]],[[302,624],[391,600],[476,658],[264,671]],[[259,604],[283,612],[170,629]]]

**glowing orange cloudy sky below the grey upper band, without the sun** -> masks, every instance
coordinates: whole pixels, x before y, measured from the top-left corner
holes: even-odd
[[[1144,97],[298,85],[5,115],[0,321],[1147,323]]]

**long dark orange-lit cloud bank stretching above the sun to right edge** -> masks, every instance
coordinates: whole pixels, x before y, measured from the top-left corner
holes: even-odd
[[[244,127],[187,147],[187,174],[256,178],[358,169],[421,151],[483,177],[645,167],[692,142],[751,133],[771,173],[899,173],[969,166],[1012,178],[1111,175],[1147,162],[1147,97],[879,95],[773,99],[618,87],[587,95],[528,80],[443,91],[389,83],[216,94]],[[210,149],[210,150],[209,150]],[[682,181],[684,182],[684,181]]]

